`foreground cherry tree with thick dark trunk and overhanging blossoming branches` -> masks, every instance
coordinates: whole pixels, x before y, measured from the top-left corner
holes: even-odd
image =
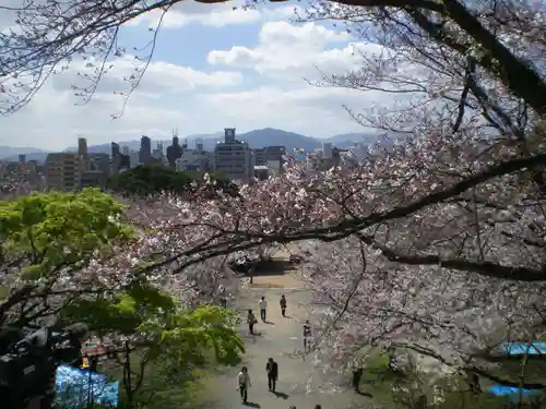
[[[2,37],[7,49],[13,50],[3,58],[2,72],[11,75],[9,81],[19,76],[36,85],[52,72],[43,69],[55,70],[76,56],[88,60],[94,53],[109,61],[108,56],[123,52],[115,41],[120,25],[152,10],[168,12],[175,3],[120,3],[108,10],[93,2],[63,3],[60,9],[47,1],[25,3],[15,8],[23,29]],[[157,216],[157,230],[165,228],[169,238],[183,240],[165,245],[165,253],[146,272],[169,265],[179,273],[210,257],[256,246],[306,239],[335,241],[358,232],[383,255],[410,265],[441,264],[510,280],[546,278],[541,167],[546,157],[541,122],[545,93],[541,92],[544,79],[535,69],[541,60],[532,51],[542,49],[543,15],[531,13],[533,9],[524,3],[499,8],[488,2],[479,10],[454,0],[352,3],[357,8],[320,2],[308,11],[314,19],[349,24],[373,21],[376,37],[384,38],[387,51],[397,53],[390,55],[390,60],[370,61],[368,74],[364,70],[332,77],[332,83],[363,89],[388,88],[391,83],[396,93],[434,74],[413,92],[430,96],[436,105],[420,109],[416,104],[406,117],[399,113],[382,123],[373,121],[387,129],[394,129],[394,120],[413,123],[418,137],[349,169],[311,175],[294,165],[277,178],[242,187],[239,197],[201,195],[183,203],[179,199],[149,203],[139,217],[152,213],[154,220]],[[104,19],[102,11],[109,17]],[[49,36],[41,36],[40,29]],[[17,46],[22,43],[24,51]],[[529,52],[522,55],[523,47],[515,49],[517,43]],[[145,67],[147,60],[142,61]],[[107,67],[99,63],[95,75],[86,79],[96,85]],[[415,74],[413,80],[401,77],[400,68]],[[135,81],[142,73],[135,74]],[[28,89],[19,89],[23,88]],[[13,107],[27,99],[17,100]],[[458,109],[444,115],[454,109],[454,103],[438,104],[449,100],[455,100]],[[479,118],[477,111],[483,111]],[[501,141],[484,131],[486,125],[496,129]],[[162,214],[161,206],[171,213]],[[394,234],[404,240],[389,240]],[[514,261],[512,252],[530,256]]]

